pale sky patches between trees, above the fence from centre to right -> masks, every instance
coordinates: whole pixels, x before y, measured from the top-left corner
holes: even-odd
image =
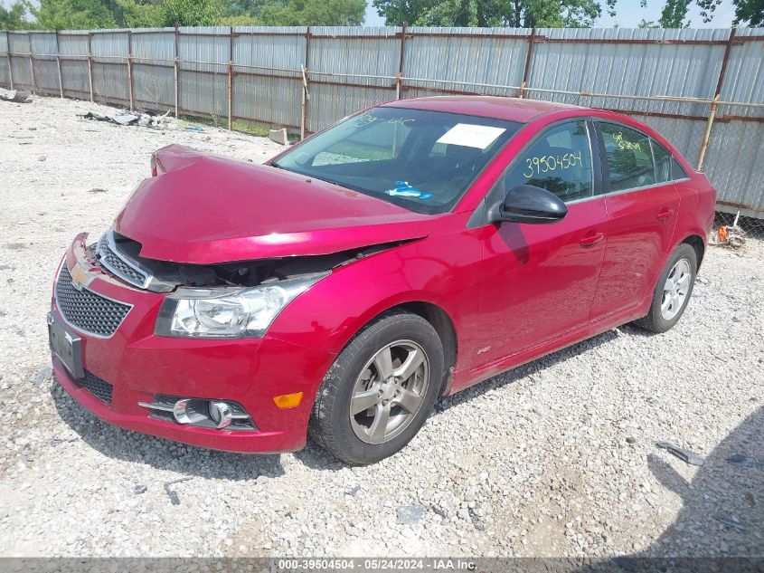
[[[615,24],[618,24],[621,28],[636,28],[642,18],[648,21],[656,21],[661,15],[665,0],[647,0],[645,8],[639,6],[639,0],[618,0],[616,4],[618,15],[615,18],[610,18],[605,14],[604,0],[600,0],[600,4],[603,5],[603,15],[599,18],[597,24],[595,24],[596,27],[612,28]],[[722,0],[722,5],[717,6],[711,23],[703,24],[700,10],[693,2],[687,17],[690,20],[690,26],[693,28],[729,28],[735,17],[735,7],[732,5],[731,0]],[[371,0],[366,5],[366,22],[364,25],[384,25],[384,20],[374,10]]]

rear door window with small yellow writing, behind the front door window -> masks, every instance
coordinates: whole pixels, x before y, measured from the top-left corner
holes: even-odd
[[[636,129],[601,122],[610,175],[610,191],[623,191],[656,183],[650,138]]]

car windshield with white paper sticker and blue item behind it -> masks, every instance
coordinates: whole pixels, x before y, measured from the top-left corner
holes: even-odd
[[[446,213],[521,127],[385,106],[345,119],[271,165],[417,213]]]

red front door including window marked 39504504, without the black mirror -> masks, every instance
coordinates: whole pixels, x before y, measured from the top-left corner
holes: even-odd
[[[534,138],[489,194],[493,202],[514,186],[539,186],[561,197],[568,214],[554,224],[485,227],[477,368],[589,321],[608,222],[593,173],[588,123],[568,120]]]

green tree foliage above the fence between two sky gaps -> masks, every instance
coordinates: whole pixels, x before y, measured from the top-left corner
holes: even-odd
[[[389,25],[575,28],[595,24],[602,14],[597,0],[373,0],[373,5]]]

